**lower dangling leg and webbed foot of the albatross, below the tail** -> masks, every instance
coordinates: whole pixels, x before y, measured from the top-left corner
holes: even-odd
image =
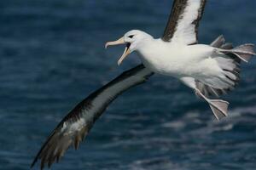
[[[201,99],[205,99],[207,103],[210,105],[214,116],[218,119],[218,121],[223,118],[224,116],[228,116],[228,107],[229,102],[224,101],[222,99],[208,99],[201,91],[195,88],[195,94]]]

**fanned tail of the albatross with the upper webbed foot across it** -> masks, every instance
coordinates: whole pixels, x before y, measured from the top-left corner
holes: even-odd
[[[233,48],[230,42],[225,42],[223,36],[219,36],[211,46],[218,49],[215,59],[223,70],[223,75],[215,78],[214,82],[217,84],[214,87],[206,82],[196,81],[196,88],[207,97],[219,97],[236,88],[240,81],[241,60],[248,62],[255,52],[253,44],[247,43]]]

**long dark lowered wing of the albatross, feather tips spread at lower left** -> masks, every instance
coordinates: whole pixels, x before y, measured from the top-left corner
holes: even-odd
[[[143,65],[137,65],[90,94],[55,127],[55,130],[49,135],[38,155],[32,161],[31,167],[38,160],[41,160],[41,169],[45,165],[50,167],[53,162],[59,161],[72,144],[75,149],[78,149],[79,143],[89,133],[96,119],[102,115],[113,99],[128,88],[146,82],[151,75],[153,75],[153,72]]]

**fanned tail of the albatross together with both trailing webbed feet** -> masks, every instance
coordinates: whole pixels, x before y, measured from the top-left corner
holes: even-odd
[[[211,43],[211,46],[217,49],[214,59],[222,69],[222,76],[214,79],[213,82],[216,82],[214,87],[195,80],[195,94],[207,101],[214,116],[220,120],[224,116],[228,116],[229,102],[222,99],[209,99],[208,97],[219,97],[234,89],[240,80],[241,60],[248,62],[255,55],[255,52],[253,44],[247,43],[233,48],[231,43],[225,43],[223,36],[219,36]]]

